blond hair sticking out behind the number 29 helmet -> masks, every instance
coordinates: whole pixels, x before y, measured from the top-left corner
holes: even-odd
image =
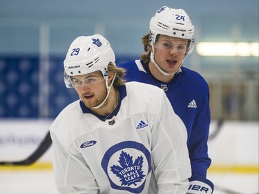
[[[116,72],[116,77],[115,80],[113,82],[113,86],[115,88],[119,87],[119,86],[124,86],[125,85],[125,79],[123,79],[122,77],[124,77],[126,70],[124,70],[124,68],[118,68],[117,66],[115,66],[112,62],[110,62],[108,64],[108,73]]]

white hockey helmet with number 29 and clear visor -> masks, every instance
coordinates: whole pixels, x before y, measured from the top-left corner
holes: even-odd
[[[71,76],[84,75],[100,70],[106,83],[108,64],[115,65],[115,55],[108,40],[102,35],[77,37],[71,44],[64,60],[64,81],[73,88]]]

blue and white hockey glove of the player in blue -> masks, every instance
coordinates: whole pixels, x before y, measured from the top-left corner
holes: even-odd
[[[186,194],[212,194],[214,185],[204,177],[191,177]]]

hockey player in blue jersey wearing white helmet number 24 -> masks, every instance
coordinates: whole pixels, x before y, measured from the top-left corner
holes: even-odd
[[[188,193],[213,193],[207,180],[210,109],[209,86],[204,78],[182,66],[194,46],[194,26],[182,9],[163,6],[150,21],[150,32],[142,37],[141,60],[118,66],[126,69],[127,81],[140,81],[162,88],[188,133],[187,145],[192,176]]]

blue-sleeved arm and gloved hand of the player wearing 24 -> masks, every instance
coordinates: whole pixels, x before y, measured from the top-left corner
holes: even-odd
[[[200,104],[201,108],[199,108],[198,114],[193,122],[191,138],[188,145],[192,176],[189,179],[190,186],[187,193],[202,193],[203,190],[206,190],[207,193],[213,193],[214,187],[213,183],[207,180],[207,169],[211,165],[207,145],[211,119],[209,108],[209,86],[204,88],[206,88],[205,91],[207,92],[204,94],[202,100],[203,104]]]

